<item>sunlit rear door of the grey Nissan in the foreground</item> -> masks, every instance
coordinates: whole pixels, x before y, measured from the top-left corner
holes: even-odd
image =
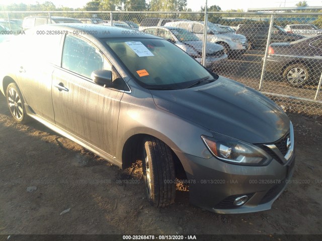
[[[17,58],[17,77],[26,103],[36,114],[54,123],[51,81],[54,67],[60,65],[62,35],[41,33],[38,30],[23,37],[25,43],[19,53],[21,58]]]

